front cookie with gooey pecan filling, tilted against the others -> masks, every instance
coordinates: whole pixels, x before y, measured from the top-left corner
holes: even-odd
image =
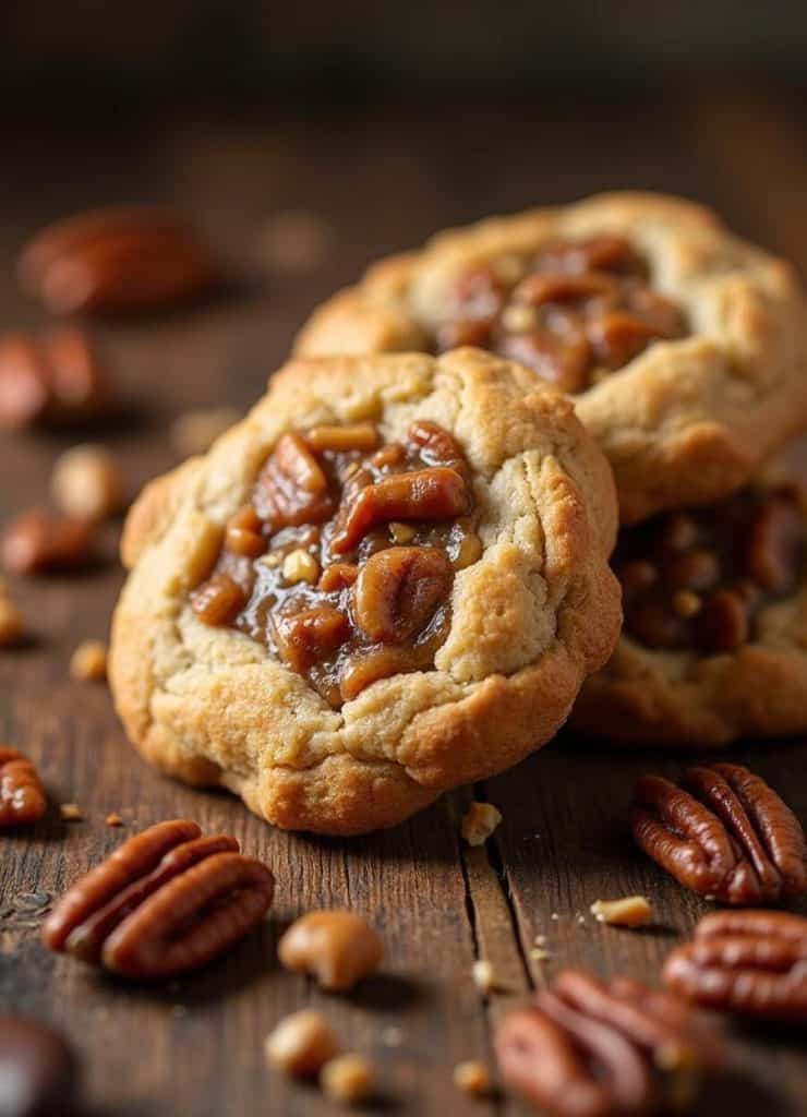
[[[557,731],[616,640],[615,533],[605,458],[526,369],[295,361],[132,509],[117,708],[270,822],[391,825]]]

